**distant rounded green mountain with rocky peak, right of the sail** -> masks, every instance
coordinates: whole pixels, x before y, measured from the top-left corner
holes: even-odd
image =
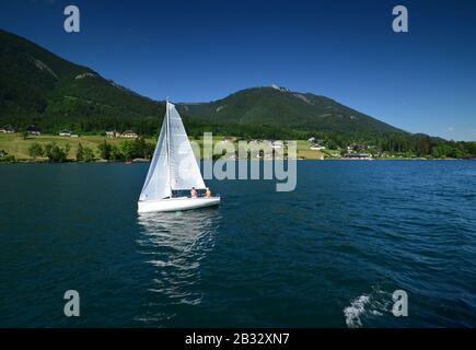
[[[404,132],[332,98],[277,85],[245,89],[209,103],[179,104],[179,109],[191,118],[211,122],[336,132]]]

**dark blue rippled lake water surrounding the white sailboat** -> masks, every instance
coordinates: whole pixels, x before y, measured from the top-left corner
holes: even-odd
[[[476,327],[476,162],[302,161],[139,217],[148,165],[0,165],[1,327]]]

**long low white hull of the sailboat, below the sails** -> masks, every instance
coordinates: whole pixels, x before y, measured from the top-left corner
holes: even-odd
[[[158,212],[158,211],[181,211],[198,209],[204,207],[217,206],[220,203],[220,197],[211,198],[167,198],[160,200],[147,200],[138,202],[138,212]]]

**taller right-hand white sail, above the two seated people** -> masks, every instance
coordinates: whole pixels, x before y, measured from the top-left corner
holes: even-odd
[[[175,105],[167,102],[170,130],[171,187],[173,190],[205,189],[200,167]]]

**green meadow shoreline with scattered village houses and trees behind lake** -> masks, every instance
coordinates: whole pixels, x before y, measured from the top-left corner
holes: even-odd
[[[202,139],[193,139],[200,147]],[[248,149],[240,152],[241,141]],[[293,159],[288,153],[290,141],[245,140],[240,137],[213,136],[213,144],[222,142],[223,152],[213,159]],[[351,143],[347,148],[326,144],[325,140],[311,137],[298,140],[295,159],[298,160],[427,160],[411,154],[386,153],[375,145]],[[225,151],[233,145],[235,151]],[[104,161],[148,161],[153,154],[155,140],[141,137],[133,130],[104,130],[100,135],[80,136],[72,130],[63,129],[57,135],[45,135],[35,125],[18,131],[11,126],[0,128],[0,162],[104,162]],[[244,154],[244,156],[243,156]]]

